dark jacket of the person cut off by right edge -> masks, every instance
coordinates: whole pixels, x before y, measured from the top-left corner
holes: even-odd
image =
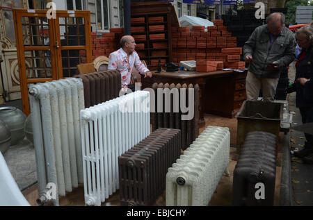
[[[300,53],[299,58],[302,56],[302,54],[303,52]],[[303,57],[303,59],[298,62],[298,66],[296,67],[296,78],[312,78],[313,79],[313,46],[307,49],[307,52],[305,53],[305,56]],[[312,91],[311,84],[312,84],[311,82],[307,82],[305,83],[305,86],[303,86],[300,83],[296,83],[296,92],[297,92],[296,107],[303,108],[303,107],[313,106],[313,99],[312,99],[313,91]],[[306,87],[306,90],[305,90],[305,87]],[[311,88],[311,91],[310,91],[310,88]]]

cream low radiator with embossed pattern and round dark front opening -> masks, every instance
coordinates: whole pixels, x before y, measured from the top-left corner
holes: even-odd
[[[208,126],[166,174],[167,206],[205,206],[230,160],[230,131]]]

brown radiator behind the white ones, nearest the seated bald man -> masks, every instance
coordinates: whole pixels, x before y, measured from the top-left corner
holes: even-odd
[[[106,70],[76,76],[83,80],[85,107],[103,103],[119,96],[121,83],[120,71]]]

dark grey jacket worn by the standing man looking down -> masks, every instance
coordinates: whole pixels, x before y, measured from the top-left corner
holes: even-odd
[[[267,24],[255,28],[249,40],[243,46],[243,55],[252,56],[249,71],[262,78],[279,78],[282,69],[296,58],[296,40],[294,33],[284,27],[274,40],[270,50],[271,37]],[[268,65],[278,62],[278,69],[268,69]]]

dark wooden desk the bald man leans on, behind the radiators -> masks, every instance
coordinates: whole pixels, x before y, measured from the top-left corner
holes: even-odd
[[[156,73],[142,78],[143,89],[153,83],[198,84],[200,87],[200,119],[204,113],[232,118],[246,100],[247,71],[175,71]]]

